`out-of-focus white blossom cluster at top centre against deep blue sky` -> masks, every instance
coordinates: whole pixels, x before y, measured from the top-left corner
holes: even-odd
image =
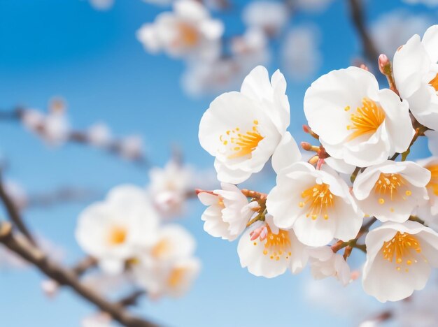
[[[233,36],[226,34],[222,20],[211,16],[209,7],[224,7],[211,6],[215,1],[147,1],[171,3],[173,9],[143,24],[136,34],[146,51],[185,60],[182,82],[189,94],[218,94],[234,87],[251,68],[269,62],[269,45],[280,37],[283,65],[291,78],[309,79],[319,68],[318,27],[301,24],[287,29],[288,22],[292,14],[320,11],[332,0],[250,1],[241,11],[245,30]]]

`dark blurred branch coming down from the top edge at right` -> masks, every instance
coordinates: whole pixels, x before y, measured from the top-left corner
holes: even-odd
[[[375,62],[379,57],[379,50],[377,50],[374,41],[368,33],[365,25],[365,15],[362,7],[362,0],[348,0],[350,3],[350,15],[355,29],[358,31],[360,40],[362,41],[362,47],[365,55],[371,62]]]

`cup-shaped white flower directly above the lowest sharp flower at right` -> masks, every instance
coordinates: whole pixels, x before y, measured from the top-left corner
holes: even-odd
[[[365,214],[381,221],[403,222],[428,200],[430,171],[412,161],[385,161],[356,177],[353,194]]]

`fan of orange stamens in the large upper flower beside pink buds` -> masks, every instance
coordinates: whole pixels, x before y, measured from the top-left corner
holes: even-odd
[[[344,110],[350,110],[350,106],[346,106]],[[358,107],[356,112],[351,114],[351,125],[348,125],[347,129],[353,133],[348,140],[375,133],[383,120],[385,120],[385,112],[381,106],[370,99],[362,99],[362,107]]]

